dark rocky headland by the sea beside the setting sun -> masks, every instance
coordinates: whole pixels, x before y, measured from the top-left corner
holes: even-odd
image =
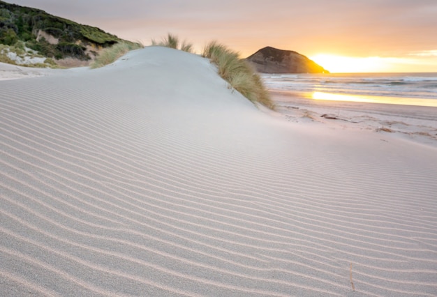
[[[303,54],[264,47],[246,58],[259,73],[329,73]]]

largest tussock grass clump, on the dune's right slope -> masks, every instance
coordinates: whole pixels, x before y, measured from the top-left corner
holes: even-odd
[[[218,75],[225,79],[232,89],[242,93],[251,102],[258,102],[274,109],[274,103],[269,98],[260,75],[255,73],[247,61],[239,59],[237,52],[213,41],[205,46],[202,56],[216,64]]]

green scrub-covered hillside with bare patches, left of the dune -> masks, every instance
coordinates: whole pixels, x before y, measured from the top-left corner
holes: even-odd
[[[28,47],[54,61],[89,61],[120,38],[43,10],[0,1],[0,45]]]

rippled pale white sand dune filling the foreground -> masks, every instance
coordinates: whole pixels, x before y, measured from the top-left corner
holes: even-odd
[[[436,295],[433,144],[260,112],[161,47],[52,74],[0,82],[1,295]]]

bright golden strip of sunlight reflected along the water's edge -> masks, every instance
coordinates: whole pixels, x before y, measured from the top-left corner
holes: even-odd
[[[312,98],[314,100],[349,101],[349,102],[366,102],[366,103],[437,107],[437,100],[433,100],[433,99],[399,98],[399,97],[385,97],[385,96],[358,96],[358,95],[346,95],[346,94],[335,94],[335,93],[325,93],[325,92],[313,92]]]

